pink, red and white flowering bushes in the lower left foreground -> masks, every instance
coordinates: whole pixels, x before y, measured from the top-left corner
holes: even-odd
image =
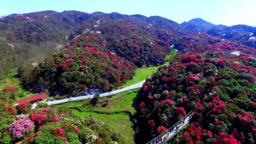
[[[3,108],[7,110],[2,111]],[[16,116],[8,111],[12,108],[8,104],[0,103],[0,143],[22,141],[24,144],[118,144],[116,138],[112,140],[110,137],[109,127],[102,122],[56,114],[49,108],[36,108],[36,113]]]

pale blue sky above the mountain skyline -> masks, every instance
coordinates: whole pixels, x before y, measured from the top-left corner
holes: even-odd
[[[2,0],[0,16],[42,10],[159,15],[178,23],[202,18],[213,24],[256,26],[256,0]]]

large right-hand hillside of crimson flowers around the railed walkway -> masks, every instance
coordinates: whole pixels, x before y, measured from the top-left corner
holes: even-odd
[[[177,46],[180,54],[142,87],[141,131],[156,137],[194,111],[180,143],[255,143],[256,50],[203,33]]]

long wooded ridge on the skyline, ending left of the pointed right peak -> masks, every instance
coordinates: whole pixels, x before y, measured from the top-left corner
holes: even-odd
[[[161,16],[146,17],[143,15],[122,15],[117,12],[79,12],[75,10],[56,12],[46,10],[41,12],[31,12],[24,14],[11,14],[0,19],[0,36],[12,37],[13,40],[36,43],[45,42],[52,39],[63,39],[68,35],[73,39],[81,34],[80,27],[82,22],[108,21],[111,19],[129,19],[147,27],[149,22],[154,21],[157,28],[174,30],[180,28],[177,22]],[[95,23],[95,22],[94,22]],[[165,26],[164,26],[164,25]],[[179,32],[179,31],[177,31]]]

